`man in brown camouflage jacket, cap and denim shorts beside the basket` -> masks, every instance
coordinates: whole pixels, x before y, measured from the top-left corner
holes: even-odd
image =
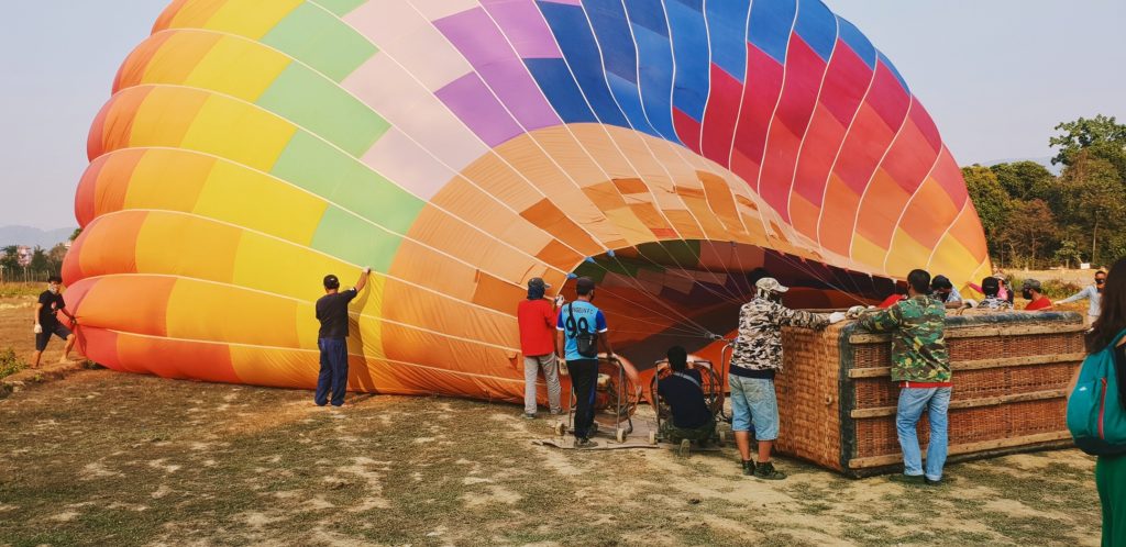
[[[754,299],[739,311],[739,339],[733,344],[727,385],[731,387],[732,421],[735,445],[743,458],[743,474],[759,478],[780,479],[786,475],[774,468],[770,449],[778,439],[778,400],[775,374],[781,370],[781,328],[824,329],[844,319],[832,315],[789,310],[779,302],[789,290],[776,279],[766,277],[754,284]],[[751,460],[751,424],[759,440],[758,465]]]

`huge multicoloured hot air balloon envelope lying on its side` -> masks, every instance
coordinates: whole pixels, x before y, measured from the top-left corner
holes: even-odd
[[[89,156],[81,341],[167,377],[313,386],[321,278],[365,266],[350,387],[493,400],[531,277],[593,277],[644,368],[763,275],[840,307],[990,271],[933,122],[817,0],[177,0]]]

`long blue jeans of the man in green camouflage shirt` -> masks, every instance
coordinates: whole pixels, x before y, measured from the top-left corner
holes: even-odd
[[[919,451],[919,433],[915,427],[927,410],[930,422],[930,443],[927,445],[927,478],[940,481],[946,465],[947,412],[950,409],[949,387],[904,387],[900,389],[900,404],[895,411],[895,430],[903,449],[903,474],[923,475],[922,454]]]

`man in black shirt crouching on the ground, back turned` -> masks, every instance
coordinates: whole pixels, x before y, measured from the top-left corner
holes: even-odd
[[[705,442],[715,433],[715,416],[704,401],[699,370],[688,368],[688,352],[673,346],[665,355],[672,373],[658,382],[656,393],[672,410],[672,420],[662,422],[665,439],[679,442],[681,454],[690,441]]]

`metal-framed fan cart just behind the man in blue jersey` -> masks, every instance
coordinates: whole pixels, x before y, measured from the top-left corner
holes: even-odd
[[[595,384],[595,422],[591,434],[614,430],[614,439],[625,442],[633,432],[633,413],[637,407],[637,386],[626,377],[625,367],[616,357],[598,358],[598,379]],[[566,423],[555,425],[555,434],[564,436],[574,432],[574,385],[570,389]],[[625,427],[622,427],[625,423]],[[605,429],[604,429],[605,428]]]

